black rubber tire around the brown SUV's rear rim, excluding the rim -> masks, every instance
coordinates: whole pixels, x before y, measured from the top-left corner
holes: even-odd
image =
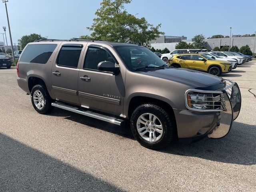
[[[33,95],[34,95],[34,92],[35,91],[39,91],[42,93],[42,96],[44,97],[44,106],[41,108],[41,109],[38,109],[34,103],[34,100],[33,100]],[[40,114],[47,114],[47,113],[50,113],[52,112],[52,110],[54,109],[54,107],[51,105],[52,104],[52,98],[50,97],[48,91],[47,91],[47,88],[43,85],[35,85],[32,90],[31,90],[31,102],[32,102],[32,105],[34,107],[34,109],[40,113]]]

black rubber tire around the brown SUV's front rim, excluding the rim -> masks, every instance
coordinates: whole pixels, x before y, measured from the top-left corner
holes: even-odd
[[[150,142],[142,138],[137,130],[137,120],[145,113],[151,113],[156,116],[162,124],[162,136],[155,142]],[[170,114],[155,104],[142,104],[138,106],[130,118],[130,126],[134,138],[144,147],[150,149],[165,148],[174,140],[174,126],[175,122],[170,118]],[[146,135],[146,134],[145,134]]]

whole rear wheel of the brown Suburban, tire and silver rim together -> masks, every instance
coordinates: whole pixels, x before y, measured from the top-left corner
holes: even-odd
[[[35,85],[31,91],[31,102],[34,109],[40,114],[52,112],[52,99],[43,85]]]

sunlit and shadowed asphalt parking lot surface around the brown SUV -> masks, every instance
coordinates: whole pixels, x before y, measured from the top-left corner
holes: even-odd
[[[40,115],[0,68],[0,191],[256,191],[256,61],[235,80],[242,109],[225,138],[140,146],[128,127],[61,109]]]

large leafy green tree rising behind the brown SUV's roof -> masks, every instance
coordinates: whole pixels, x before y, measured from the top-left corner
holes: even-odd
[[[96,11],[91,27],[92,38],[112,42],[132,42],[145,45],[164,34],[159,31],[161,24],[154,27],[146,19],[136,18],[124,9],[132,0],[102,0]]]

